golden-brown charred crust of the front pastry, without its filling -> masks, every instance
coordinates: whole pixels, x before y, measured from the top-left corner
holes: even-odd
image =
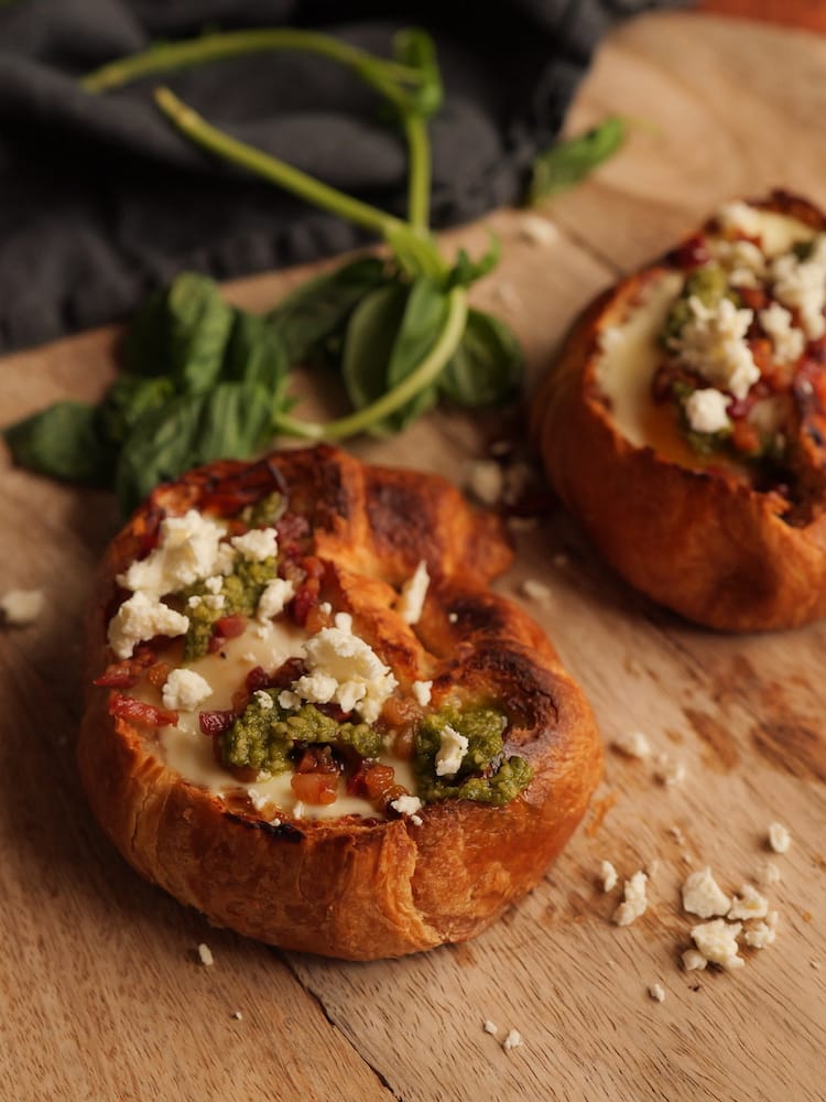
[[[273,825],[225,807],[174,774],[146,752],[137,726],[108,715],[108,694],[95,690],[78,746],[89,802],[144,876],[242,934],[352,960],[467,940],[535,886],[585,813],[601,777],[593,713],[541,628],[487,590],[512,552],[500,522],[472,510],[449,483],[369,466],[327,445],[274,453],[267,462],[285,475],[293,494],[304,486],[315,503],[311,523],[319,557],[346,561],[355,548],[359,562],[367,554],[390,577],[409,576],[424,558],[436,591],[455,586],[468,607],[492,614],[494,631],[486,630],[490,616],[483,617],[470,633],[470,653],[474,638],[491,647],[498,640],[504,652],[519,653],[524,678],[540,690],[546,722],[541,730],[520,730],[513,744],[534,766],[534,777],[504,807],[467,800],[426,804],[421,825],[407,819],[290,815]],[[198,508],[206,486],[235,477],[254,482],[250,471],[249,464],[228,462],[193,472],[160,487],[133,516],[101,564],[99,602],[89,617],[93,671],[107,653],[113,577],[134,558],[159,512]],[[410,523],[400,529],[412,503],[421,507],[413,533]],[[442,612],[444,628],[449,620],[447,608]],[[463,637],[458,624],[449,626],[448,647]],[[468,676],[482,679],[483,663]]]

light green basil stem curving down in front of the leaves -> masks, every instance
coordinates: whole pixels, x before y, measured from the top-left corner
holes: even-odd
[[[347,417],[322,424],[314,421],[300,421],[289,414],[279,414],[274,419],[275,429],[293,436],[308,440],[345,440],[363,432],[372,424],[383,420],[398,409],[401,409],[411,398],[430,387],[442,374],[447,361],[459,346],[467,324],[467,291],[464,287],[455,287],[447,295],[447,316],[438,339],[431,348],[419,367],[402,379],[381,398],[356,410]]]

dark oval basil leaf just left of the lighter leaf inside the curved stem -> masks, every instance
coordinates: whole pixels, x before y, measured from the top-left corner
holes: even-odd
[[[409,288],[384,283],[366,295],[347,326],[341,375],[356,409],[369,406],[388,389],[388,365],[404,316]]]

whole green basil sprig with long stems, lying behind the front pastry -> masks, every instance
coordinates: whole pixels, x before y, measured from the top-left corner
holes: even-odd
[[[302,50],[348,67],[383,98],[409,151],[407,217],[398,218],[225,133],[169,88],[155,102],[191,141],[373,233],[387,259],[362,257],[317,277],[263,316],[184,272],[153,292],[124,342],[126,370],[98,406],[62,402],[4,430],[14,460],[58,478],[113,487],[124,510],[159,482],[214,458],[248,458],[274,434],[344,440],[399,432],[441,398],[477,408],[519,389],[523,357],[503,322],[469,310],[467,290],[497,263],[461,250],[453,263],[428,228],[427,119],[443,93],[433,43],[396,35],[391,58],[294,29],[208,34],[153,46],[81,80],[100,94],[219,57]],[[352,411],[327,422],[293,414],[289,368],[338,372]]]

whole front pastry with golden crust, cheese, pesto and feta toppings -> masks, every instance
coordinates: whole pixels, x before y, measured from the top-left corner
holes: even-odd
[[[601,775],[583,692],[488,587],[510,561],[445,479],[326,445],[159,487],[89,617],[78,761],[106,833],[211,922],[285,949],[369,960],[479,933]],[[247,613],[233,570],[258,586]]]

